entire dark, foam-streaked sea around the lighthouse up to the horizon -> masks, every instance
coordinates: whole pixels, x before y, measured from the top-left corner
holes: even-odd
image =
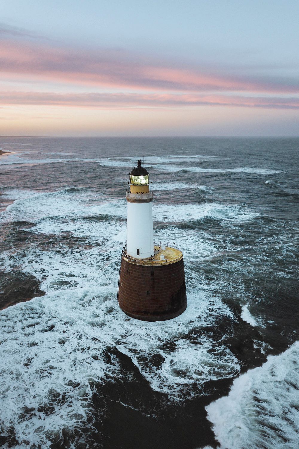
[[[0,445],[299,447],[299,139],[2,138]],[[126,185],[188,308],[118,307]]]

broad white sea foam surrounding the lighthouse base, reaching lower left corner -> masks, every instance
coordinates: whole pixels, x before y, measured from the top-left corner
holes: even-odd
[[[22,192],[2,213],[9,220],[35,224],[28,230],[33,240],[26,251],[13,249],[2,264],[12,271],[21,267],[38,278],[46,292],[0,312],[0,427],[8,438],[12,431],[21,445],[30,441],[50,447],[53,440],[62,440],[64,428],[76,429],[77,443],[84,440],[80,429],[94,419],[93,385],[130,374],[113,354],[108,361],[109,348],[128,356],[152,390],[169,401],[184,400],[187,392],[189,397],[203,394],[209,380],[240,370],[222,337],[210,332],[216,320],[234,316],[212,288],[201,286],[190,264],[200,254],[212,254],[213,246],[199,233],[188,233],[184,250],[188,308],[176,319],[140,326],[124,315],[116,300],[126,200],[99,198],[96,206],[94,200],[91,192],[80,190]],[[204,216],[204,209],[199,210]],[[179,219],[175,207],[168,212],[172,220]],[[198,216],[195,209],[191,212],[191,217]],[[183,210],[180,213],[184,220]],[[177,234],[183,242],[183,233],[170,227],[160,229],[159,237],[173,240]],[[42,234],[48,238],[46,247],[39,245]],[[195,344],[198,333],[200,344]],[[152,363],[157,357],[158,365]]]

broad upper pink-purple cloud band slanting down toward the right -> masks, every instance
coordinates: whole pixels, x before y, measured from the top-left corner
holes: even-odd
[[[7,78],[51,80],[67,84],[185,92],[299,92],[297,80],[225,75],[206,67],[148,62],[117,50],[55,47],[49,43],[0,40],[0,72]]]

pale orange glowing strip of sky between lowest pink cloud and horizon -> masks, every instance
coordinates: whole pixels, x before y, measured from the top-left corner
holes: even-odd
[[[282,120],[276,110],[223,106],[177,107],[167,113],[160,108],[9,106],[0,116],[2,135],[30,136],[254,136],[256,130],[263,136],[277,135],[296,118],[294,110],[285,110]]]

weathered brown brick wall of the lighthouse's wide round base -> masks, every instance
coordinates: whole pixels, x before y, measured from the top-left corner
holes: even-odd
[[[122,257],[118,302],[127,315],[139,320],[178,317],[187,307],[184,260],[149,266]]]

